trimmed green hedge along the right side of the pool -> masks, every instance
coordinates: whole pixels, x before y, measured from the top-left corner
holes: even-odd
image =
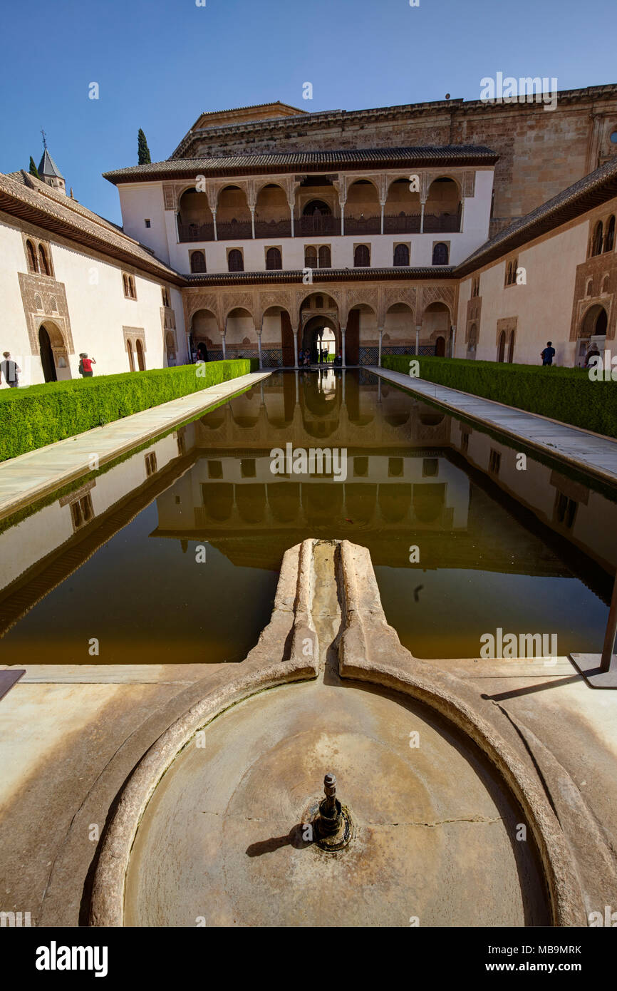
[[[617,384],[592,382],[582,369],[463,358],[420,356],[416,359],[415,355],[384,355],[381,364],[393,372],[409,375],[412,360],[420,363],[420,378],[428,382],[450,385],[606,437],[617,437]]]

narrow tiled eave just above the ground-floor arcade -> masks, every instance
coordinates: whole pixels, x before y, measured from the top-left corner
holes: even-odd
[[[404,269],[319,269],[318,282],[350,281],[391,281],[410,278],[452,278],[452,266],[422,266]],[[204,275],[184,275],[188,285],[245,285],[254,282],[302,282],[302,269],[268,270],[267,272],[213,272]]]

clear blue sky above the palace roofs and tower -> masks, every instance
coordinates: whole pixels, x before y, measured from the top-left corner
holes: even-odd
[[[477,99],[498,71],[617,81],[616,0],[13,0],[2,37],[0,171],[39,164],[43,126],[66,185],[116,222],[101,172],[137,164],[140,127],[156,162],[204,110]]]

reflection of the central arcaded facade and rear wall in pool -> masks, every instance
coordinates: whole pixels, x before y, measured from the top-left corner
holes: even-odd
[[[307,535],[360,541],[373,563],[404,567],[422,533],[423,568],[569,574],[535,534],[503,525],[494,498],[471,499],[452,430],[435,407],[356,375],[268,380],[195,424],[207,455],[157,499],[153,536],[208,540],[236,564],[276,569]],[[273,476],[269,452],[287,443],[347,448],[347,480]]]

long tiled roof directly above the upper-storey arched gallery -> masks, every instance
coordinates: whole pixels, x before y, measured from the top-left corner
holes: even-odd
[[[233,175],[272,171],[323,171],[371,165],[494,165],[499,156],[482,145],[424,145],[413,148],[360,148],[328,152],[286,152],[268,155],[235,155],[228,158],[167,159],[151,165],[129,165],[103,172],[110,182],[183,178],[187,175]]]

